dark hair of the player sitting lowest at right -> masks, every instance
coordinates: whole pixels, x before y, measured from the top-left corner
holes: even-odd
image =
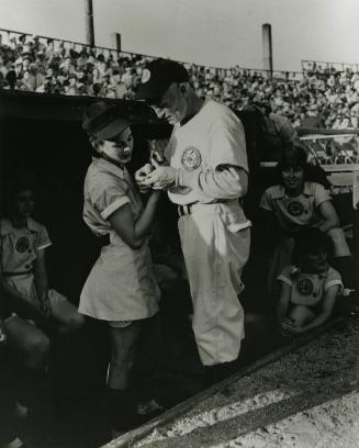
[[[295,248],[293,253],[294,265],[301,265],[307,255],[316,255],[326,251],[333,255],[333,242],[329,235],[317,227],[303,227],[295,236]]]

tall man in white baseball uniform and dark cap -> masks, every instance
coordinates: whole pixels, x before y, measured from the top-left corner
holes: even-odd
[[[184,67],[157,59],[142,76],[137,98],[173,125],[167,164],[139,169],[139,188],[168,189],[178,206],[179,234],[193,302],[192,327],[204,366],[238,357],[244,312],[238,294],[249,255],[249,227],[240,206],[248,165],[243,125],[225,105],[199,98]]]

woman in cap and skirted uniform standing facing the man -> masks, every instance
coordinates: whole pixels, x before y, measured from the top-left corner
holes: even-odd
[[[83,220],[97,236],[108,236],[81,292],[79,311],[105,322],[111,338],[108,400],[114,432],[135,424],[130,389],[139,335],[158,313],[159,289],[147,236],[160,192],[144,206],[127,169],[133,150],[130,122],[104,102],[92,104],[83,121],[96,150],[85,180]]]

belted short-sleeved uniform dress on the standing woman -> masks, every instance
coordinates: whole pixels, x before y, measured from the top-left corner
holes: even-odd
[[[158,312],[147,239],[132,249],[112,228],[109,216],[128,204],[134,219],[143,211],[139,193],[126,169],[93,159],[85,180],[83,220],[97,235],[110,235],[81,292],[79,311],[104,321],[134,321]]]

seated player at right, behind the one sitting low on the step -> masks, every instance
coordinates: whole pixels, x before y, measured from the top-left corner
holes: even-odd
[[[272,254],[268,272],[268,292],[274,296],[274,279],[291,262],[294,237],[303,226],[326,233],[334,246],[333,260],[346,288],[354,288],[354,268],[339,217],[325,188],[310,180],[311,166],[300,142],[287,148],[278,165],[280,183],[268,188],[260,200],[266,238]]]

